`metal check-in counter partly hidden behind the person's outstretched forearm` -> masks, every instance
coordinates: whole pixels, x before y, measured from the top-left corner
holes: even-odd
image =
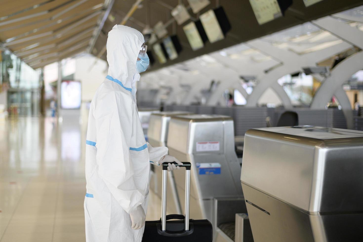
[[[165,111],[151,114],[149,120],[149,128],[147,131],[148,142],[153,147],[158,146],[167,146],[166,141],[168,137],[168,128],[169,121],[172,116],[176,115],[187,115],[191,114],[190,112],[185,111]],[[158,197],[162,197],[162,168],[156,167],[155,165],[151,165],[151,177],[150,177],[150,189],[156,194]],[[176,192],[176,186],[174,182],[174,174],[173,171],[168,172],[167,179],[167,206],[168,212],[172,214],[181,214],[180,202],[178,193]],[[174,201],[174,202],[171,202]]]

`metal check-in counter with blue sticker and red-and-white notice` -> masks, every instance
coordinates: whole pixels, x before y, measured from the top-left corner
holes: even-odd
[[[245,213],[241,211],[245,202],[240,185],[241,165],[234,151],[231,117],[200,114],[172,116],[167,147],[170,155],[192,164],[191,218],[207,218],[216,231],[220,223],[226,222],[227,213],[232,221],[236,213]],[[183,209],[185,174],[176,171],[174,177]],[[234,207],[237,210],[233,210]]]

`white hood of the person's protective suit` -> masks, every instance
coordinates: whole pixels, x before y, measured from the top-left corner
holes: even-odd
[[[122,82],[125,87],[135,89],[135,82],[140,79],[140,74],[136,71],[136,61],[144,42],[142,33],[124,25],[113,26],[108,34],[106,44],[108,74]]]

